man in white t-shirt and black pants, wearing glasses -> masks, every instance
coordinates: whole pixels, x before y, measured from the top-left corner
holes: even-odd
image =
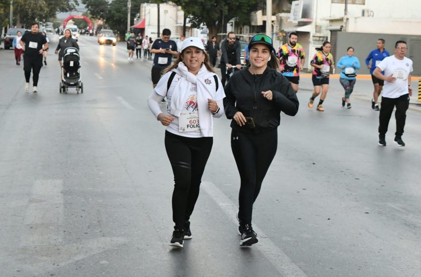
[[[395,54],[384,58],[373,72],[374,77],[385,81],[378,126],[378,144],[381,146],[386,146],[387,127],[395,106],[395,142],[398,146],[405,146],[402,135],[404,134],[406,111],[409,107],[409,96],[412,95],[411,72],[413,71],[412,60],[405,57],[407,50],[406,42],[397,41],[394,49]],[[384,71],[384,75],[381,74],[381,71]]]

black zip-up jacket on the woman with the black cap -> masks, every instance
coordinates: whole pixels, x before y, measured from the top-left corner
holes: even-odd
[[[241,126],[232,119],[231,128],[242,132],[261,133],[276,129],[280,113],[294,116],[298,112],[298,98],[281,73],[267,67],[263,74],[253,75],[248,68],[234,74],[225,86],[224,109],[228,119],[238,111],[252,117],[256,127]],[[262,92],[272,91],[272,100],[263,97]]]

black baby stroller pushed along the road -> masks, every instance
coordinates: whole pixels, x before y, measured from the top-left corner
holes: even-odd
[[[79,51],[75,47],[67,47],[64,49],[63,57],[61,58],[61,83],[60,93],[67,93],[68,88],[76,88],[83,93],[83,83],[80,81],[80,56]]]

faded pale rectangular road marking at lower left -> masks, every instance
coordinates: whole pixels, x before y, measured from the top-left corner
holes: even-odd
[[[37,180],[22,230],[21,246],[63,242],[63,180]]]

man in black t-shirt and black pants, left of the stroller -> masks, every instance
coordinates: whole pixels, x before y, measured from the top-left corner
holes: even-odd
[[[40,25],[33,23],[31,32],[26,32],[19,41],[23,50],[23,70],[25,71],[25,91],[29,90],[29,79],[31,78],[31,70],[33,73],[33,92],[38,92],[38,78],[40,76],[41,67],[43,67],[43,52],[48,48],[46,37],[40,32]]]

